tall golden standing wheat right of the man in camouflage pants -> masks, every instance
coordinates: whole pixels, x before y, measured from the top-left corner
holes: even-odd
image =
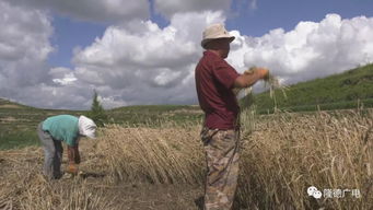
[[[242,202],[253,209],[373,208],[372,110],[258,118],[243,143]],[[308,196],[310,186],[323,197]]]

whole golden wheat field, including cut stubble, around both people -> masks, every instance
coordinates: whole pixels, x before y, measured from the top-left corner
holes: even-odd
[[[107,126],[96,141],[81,141],[83,173],[55,182],[40,174],[40,148],[0,151],[0,209],[199,209],[200,129]],[[246,110],[241,136],[235,209],[373,209],[372,110]],[[310,186],[323,197],[308,196]]]

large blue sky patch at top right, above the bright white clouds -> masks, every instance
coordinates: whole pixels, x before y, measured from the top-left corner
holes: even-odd
[[[252,36],[261,36],[277,27],[290,31],[300,21],[319,22],[328,13],[337,13],[343,19],[373,14],[371,0],[258,0],[254,10],[247,3],[236,9],[238,4],[232,5],[238,15],[228,20],[228,27],[240,28]]]

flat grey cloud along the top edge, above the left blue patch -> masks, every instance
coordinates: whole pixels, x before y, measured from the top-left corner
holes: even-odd
[[[26,9],[50,10],[69,18],[91,22],[118,23],[132,19],[148,19],[148,0],[4,0]]]

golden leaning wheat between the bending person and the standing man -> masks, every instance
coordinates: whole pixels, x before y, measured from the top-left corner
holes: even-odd
[[[205,153],[200,126],[125,128],[104,131],[100,153],[110,167],[113,182],[201,184]]]

